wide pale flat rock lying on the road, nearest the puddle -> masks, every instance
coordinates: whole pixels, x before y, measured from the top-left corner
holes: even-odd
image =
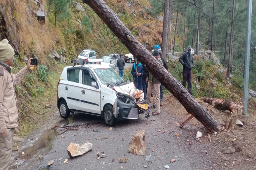
[[[70,157],[83,155],[83,154],[89,152],[90,150],[92,150],[92,143],[89,143],[89,142],[86,142],[86,143],[82,144],[81,146],[79,144],[71,142],[67,148],[68,155]]]

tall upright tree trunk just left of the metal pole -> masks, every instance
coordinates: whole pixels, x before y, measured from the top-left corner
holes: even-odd
[[[230,32],[230,44],[229,44],[229,55],[228,55],[228,71],[227,77],[232,73],[232,55],[233,55],[233,39],[234,39],[234,25],[235,25],[235,11],[236,11],[236,0],[233,0],[232,8],[232,21],[231,21],[231,32]]]

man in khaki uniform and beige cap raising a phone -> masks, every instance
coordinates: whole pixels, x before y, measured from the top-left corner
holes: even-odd
[[[32,58],[17,74],[11,73],[14,49],[4,39],[0,42],[0,170],[8,170],[12,154],[14,128],[18,127],[15,86],[27,74]]]

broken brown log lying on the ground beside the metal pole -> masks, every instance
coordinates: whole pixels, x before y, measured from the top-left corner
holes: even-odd
[[[237,105],[230,100],[222,100],[222,99],[209,98],[209,97],[201,98],[201,100],[203,100],[204,102],[210,105],[213,105],[216,109],[228,110],[233,113],[234,113],[234,109],[236,109],[238,112],[239,109],[243,108],[243,106]]]

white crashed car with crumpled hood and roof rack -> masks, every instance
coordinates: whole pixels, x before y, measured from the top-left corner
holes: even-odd
[[[134,94],[133,83],[125,84],[111,67],[102,65],[102,59],[96,60],[82,60],[84,65],[76,65],[81,60],[72,60],[74,66],[63,69],[57,84],[57,107],[62,118],[67,119],[70,112],[81,112],[101,116],[113,126],[117,119],[138,119],[141,108],[148,111],[147,104],[137,102],[137,95],[130,95]]]

